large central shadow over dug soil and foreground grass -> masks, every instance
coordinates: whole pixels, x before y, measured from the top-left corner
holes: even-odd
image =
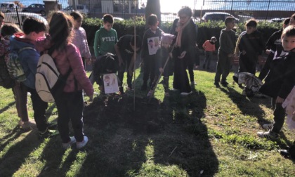
[[[146,173],[150,162],[161,168],[176,165],[190,176],[199,176],[202,170],[202,175],[214,176],[218,160],[200,120],[206,107],[204,93],[170,96],[164,103],[155,98],[150,103],[135,100],[135,111],[128,95],[99,96],[86,107],[85,133],[90,141],[77,176],[133,176]],[[152,155],[147,147],[153,148]],[[157,168],[154,175],[164,173]]]

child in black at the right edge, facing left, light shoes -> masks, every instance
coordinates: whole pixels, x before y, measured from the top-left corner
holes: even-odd
[[[268,77],[265,78],[265,84],[263,84],[260,89],[262,93],[272,96],[273,100],[275,100],[273,127],[270,127],[270,131],[258,132],[257,135],[261,138],[267,138],[269,140],[278,138],[278,133],[280,133],[280,130],[284,124],[286,111],[282,107],[282,103],[295,86],[294,41],[295,26],[289,25],[289,27],[285,28],[282,32],[282,46],[284,51],[289,51],[289,53],[282,56],[281,58],[273,60],[273,64],[270,66],[270,73],[268,74]]]

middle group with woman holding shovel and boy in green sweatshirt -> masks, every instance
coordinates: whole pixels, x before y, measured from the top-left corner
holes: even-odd
[[[169,96],[169,76],[172,73],[174,73],[173,90],[180,91],[183,96],[192,93],[188,74],[185,70],[188,67],[191,68],[190,81],[195,85],[192,71],[194,64],[191,61],[195,60],[197,31],[194,22],[192,22],[192,10],[189,7],[181,8],[178,15],[180,19],[176,32],[166,34],[158,27],[157,15],[151,14],[147,18],[149,28],[145,31],[142,40],[140,37],[131,34],[126,34],[117,40],[117,32],[112,29],[114,22],[112,15],[106,14],[103,16],[103,27],[100,27],[96,32],[94,51],[97,60],[100,60],[101,56],[107,53],[117,55],[119,63],[119,94],[124,93],[123,79],[125,71],[127,71],[126,90],[133,91],[132,77],[136,53],[140,53],[144,70],[141,91],[148,89],[147,96],[151,96],[155,91],[155,84],[160,74],[164,76],[164,94]],[[175,65],[173,65],[174,63]],[[96,70],[96,68],[93,68],[93,70]],[[96,72],[96,74],[104,73]],[[93,77],[98,78],[99,76]],[[147,84],[148,82],[149,84]],[[101,81],[97,82],[101,91],[103,91],[102,83]]]

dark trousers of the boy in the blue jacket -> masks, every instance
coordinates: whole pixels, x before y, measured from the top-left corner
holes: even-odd
[[[41,100],[41,98],[39,97],[35,89],[31,89],[25,85],[23,85],[23,88],[27,92],[31,93],[31,100],[32,100],[32,105],[34,110],[34,120],[36,122],[37,129],[39,131],[46,131],[48,127],[48,122],[45,117],[45,113],[48,107],[48,103]]]

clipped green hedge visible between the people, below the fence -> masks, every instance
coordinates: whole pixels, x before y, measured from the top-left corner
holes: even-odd
[[[136,34],[143,38],[145,32],[145,20],[143,18],[137,18],[135,20],[136,24]],[[211,37],[219,38],[221,29],[225,28],[224,22],[197,22],[198,34],[197,34],[197,43],[199,48],[202,48],[204,41],[211,39]],[[103,25],[103,20],[100,18],[86,18],[82,27],[86,30],[87,40],[89,46],[93,46],[94,36],[96,31]],[[161,24],[160,28],[164,32],[169,32],[172,22],[164,22]],[[240,33],[245,30],[244,24],[236,24],[236,35],[239,37]],[[268,38],[282,27],[282,22],[258,22],[258,31],[263,34],[263,40],[266,41]],[[124,36],[125,34],[134,34],[134,21],[133,20],[124,20],[114,22],[114,29],[117,31],[118,38]],[[217,41],[216,48],[219,44]]]

